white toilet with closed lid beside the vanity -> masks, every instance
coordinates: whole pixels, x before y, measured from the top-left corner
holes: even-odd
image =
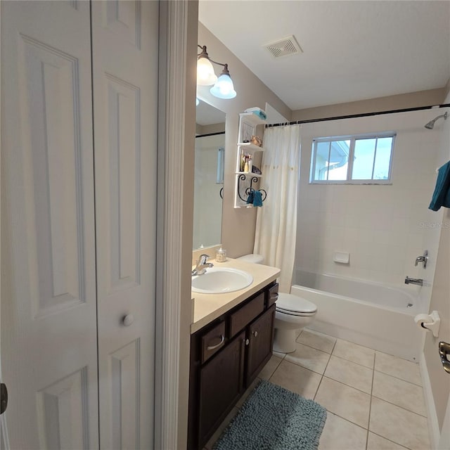
[[[245,262],[262,264],[262,255],[251,254],[239,257]],[[278,293],[275,304],[274,351],[280,353],[295,352],[295,339],[305,326],[314,321],[317,307],[297,295]]]

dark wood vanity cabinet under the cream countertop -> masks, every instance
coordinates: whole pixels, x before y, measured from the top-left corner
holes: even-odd
[[[188,449],[203,449],[272,354],[270,283],[191,335]]]

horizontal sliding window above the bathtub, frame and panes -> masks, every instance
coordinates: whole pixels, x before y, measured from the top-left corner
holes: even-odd
[[[314,139],[310,183],[390,183],[394,137],[389,133]]]

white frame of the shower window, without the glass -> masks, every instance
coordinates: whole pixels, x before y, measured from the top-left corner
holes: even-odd
[[[394,155],[395,138],[397,134],[394,131],[384,131],[380,133],[371,134],[348,134],[345,136],[329,136],[329,137],[319,137],[312,140],[311,148],[311,168],[309,173],[309,184],[392,184],[392,156]],[[354,146],[355,142],[359,139],[382,139],[382,138],[392,138],[391,155],[389,161],[389,174],[387,179],[350,179],[353,172],[353,162],[354,162]],[[333,141],[350,141],[349,147],[349,160],[347,167],[347,179],[345,180],[315,180],[314,174],[316,173],[316,153],[317,144],[321,142],[333,142]],[[373,170],[375,169],[375,158],[376,158],[376,144],[375,144],[375,154],[373,155]],[[328,156],[329,159],[329,156]]]

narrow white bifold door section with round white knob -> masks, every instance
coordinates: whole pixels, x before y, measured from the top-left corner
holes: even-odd
[[[151,449],[158,1],[92,2],[92,41],[101,448]]]

